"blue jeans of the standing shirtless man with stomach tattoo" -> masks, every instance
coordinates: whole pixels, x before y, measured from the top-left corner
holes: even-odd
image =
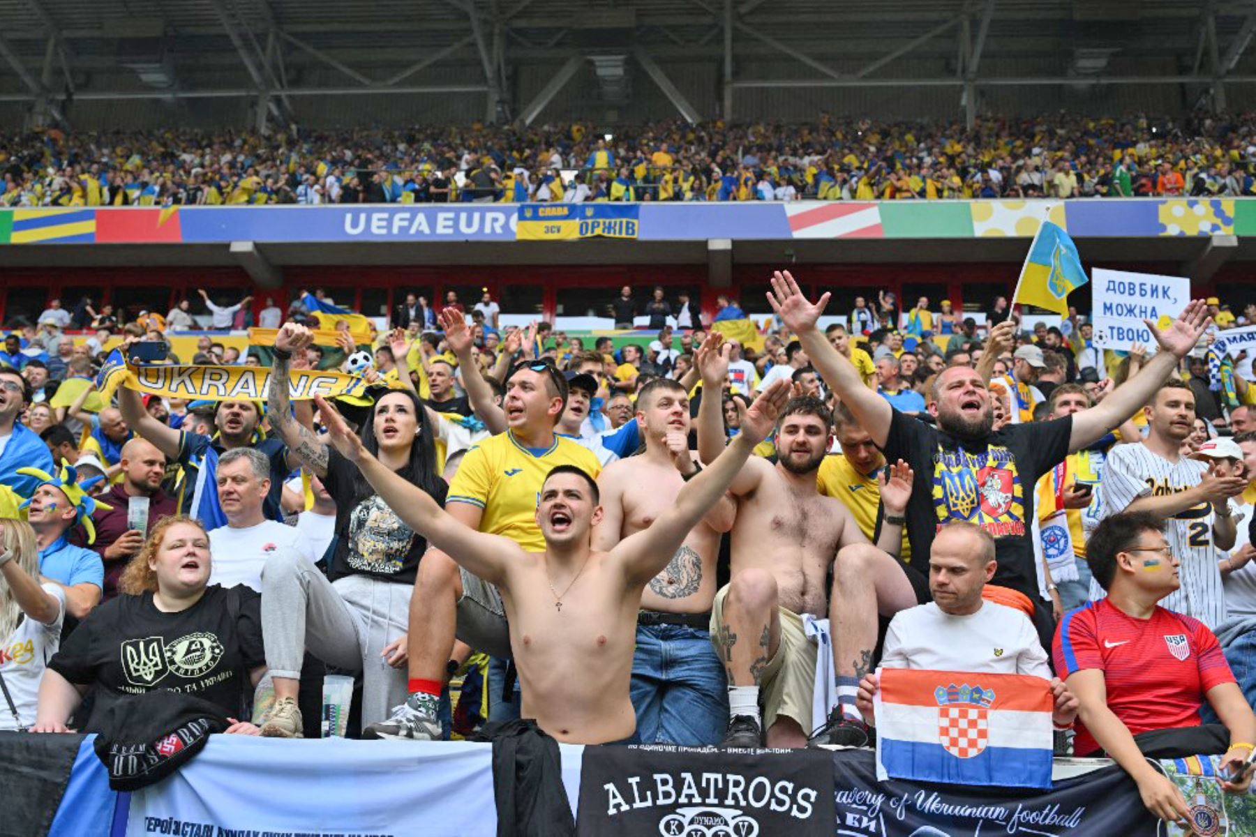
[[[703,747],[723,740],[728,686],[705,630],[638,625],[631,695],[643,744]]]

